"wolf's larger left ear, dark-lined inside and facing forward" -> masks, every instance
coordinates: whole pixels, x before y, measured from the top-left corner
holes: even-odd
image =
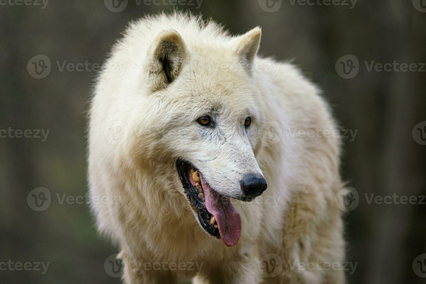
[[[166,88],[179,75],[186,56],[185,43],[178,32],[158,34],[148,49],[148,82],[153,92]]]

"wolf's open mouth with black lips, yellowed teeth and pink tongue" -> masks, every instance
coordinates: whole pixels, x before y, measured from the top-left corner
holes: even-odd
[[[176,162],[184,192],[198,213],[201,227],[210,235],[234,246],[241,235],[241,217],[229,197],[216,192],[192,164],[178,159]]]

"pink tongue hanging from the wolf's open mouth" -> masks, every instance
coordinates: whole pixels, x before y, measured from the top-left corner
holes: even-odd
[[[235,246],[241,235],[241,217],[230,198],[214,191],[200,175],[207,210],[216,218],[222,242],[228,247]]]

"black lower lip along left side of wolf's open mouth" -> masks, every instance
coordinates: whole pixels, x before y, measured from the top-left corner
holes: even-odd
[[[179,178],[181,179],[184,193],[186,193],[193,209],[198,213],[198,221],[200,222],[201,227],[203,227],[203,229],[213,237],[220,238],[219,229],[216,229],[212,224],[210,224],[212,214],[207,211],[204,202],[198,198],[198,189],[195,186],[192,186],[187,178],[186,169],[188,166],[193,165],[182,159],[178,159],[176,161],[176,169],[178,171]],[[195,166],[193,166],[193,168],[197,169]]]

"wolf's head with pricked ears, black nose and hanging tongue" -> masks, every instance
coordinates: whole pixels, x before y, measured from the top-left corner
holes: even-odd
[[[201,227],[227,246],[241,232],[230,198],[248,201],[267,188],[255,158],[266,111],[252,68],[260,36],[255,28],[230,40],[185,43],[167,30],[143,63],[149,107],[135,129],[144,137],[144,158],[179,181],[173,190],[186,195]]]

